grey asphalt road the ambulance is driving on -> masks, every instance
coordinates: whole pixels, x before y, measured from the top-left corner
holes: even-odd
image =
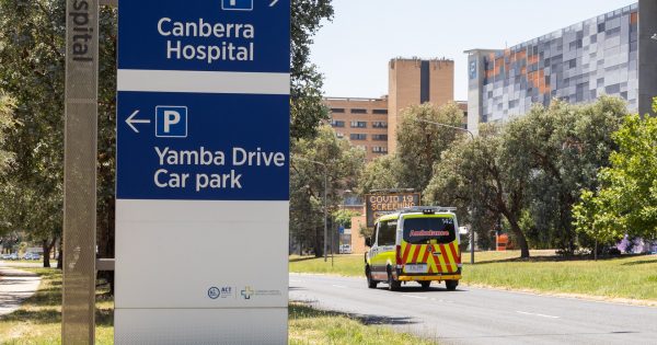
[[[434,285],[392,292],[365,278],[290,274],[290,300],[440,344],[657,344],[657,308]]]

